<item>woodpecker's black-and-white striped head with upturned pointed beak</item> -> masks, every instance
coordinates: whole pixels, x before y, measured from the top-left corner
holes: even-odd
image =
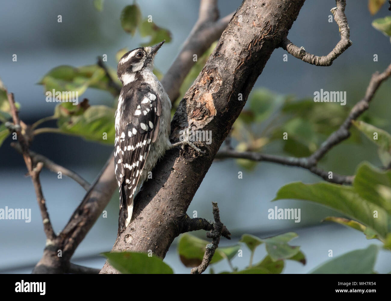
[[[153,47],[139,47],[124,54],[117,67],[118,79],[124,84],[129,77],[135,77],[136,72],[140,72],[145,69],[152,71],[153,59],[158,52],[161,45],[166,40],[163,40],[159,44]]]

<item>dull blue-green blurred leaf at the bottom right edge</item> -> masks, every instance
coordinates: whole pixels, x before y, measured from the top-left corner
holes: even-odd
[[[355,250],[330,259],[310,274],[372,274],[378,247],[370,245],[367,249]]]

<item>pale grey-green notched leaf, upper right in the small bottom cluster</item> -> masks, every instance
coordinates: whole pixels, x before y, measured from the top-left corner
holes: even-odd
[[[266,251],[272,260],[288,259],[300,251],[300,247],[287,244],[292,238],[297,237],[294,232],[288,232],[281,235],[265,238],[262,241],[266,244]]]

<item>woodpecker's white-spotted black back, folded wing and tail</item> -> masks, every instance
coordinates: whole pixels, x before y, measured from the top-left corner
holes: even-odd
[[[122,97],[122,99],[121,99]],[[148,84],[121,92],[115,137],[115,175],[120,188],[119,229],[129,224],[140,173],[157,138],[161,102]],[[118,113],[119,110],[119,113]]]

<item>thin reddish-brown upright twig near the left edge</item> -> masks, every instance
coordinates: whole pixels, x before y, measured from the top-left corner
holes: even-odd
[[[20,119],[18,115],[18,110],[15,106],[15,100],[13,93],[7,93],[8,102],[11,108],[11,115],[13,118],[13,122],[16,128],[21,129],[20,127]],[[32,159],[29,155],[29,145],[27,143],[27,139],[23,136],[22,131],[17,131],[16,136],[18,137],[18,141],[20,142],[23,159],[25,160],[27,170],[31,176],[32,183],[34,184],[34,189],[38,201],[38,206],[41,211],[43,229],[45,231],[45,235],[47,241],[50,243],[52,240],[56,238],[56,234],[54,233],[52,223],[50,222],[49,214],[46,208],[46,201],[43,197],[43,192],[41,188],[41,182],[39,181],[39,172],[41,172],[43,163],[39,162],[35,167],[32,165]]]

